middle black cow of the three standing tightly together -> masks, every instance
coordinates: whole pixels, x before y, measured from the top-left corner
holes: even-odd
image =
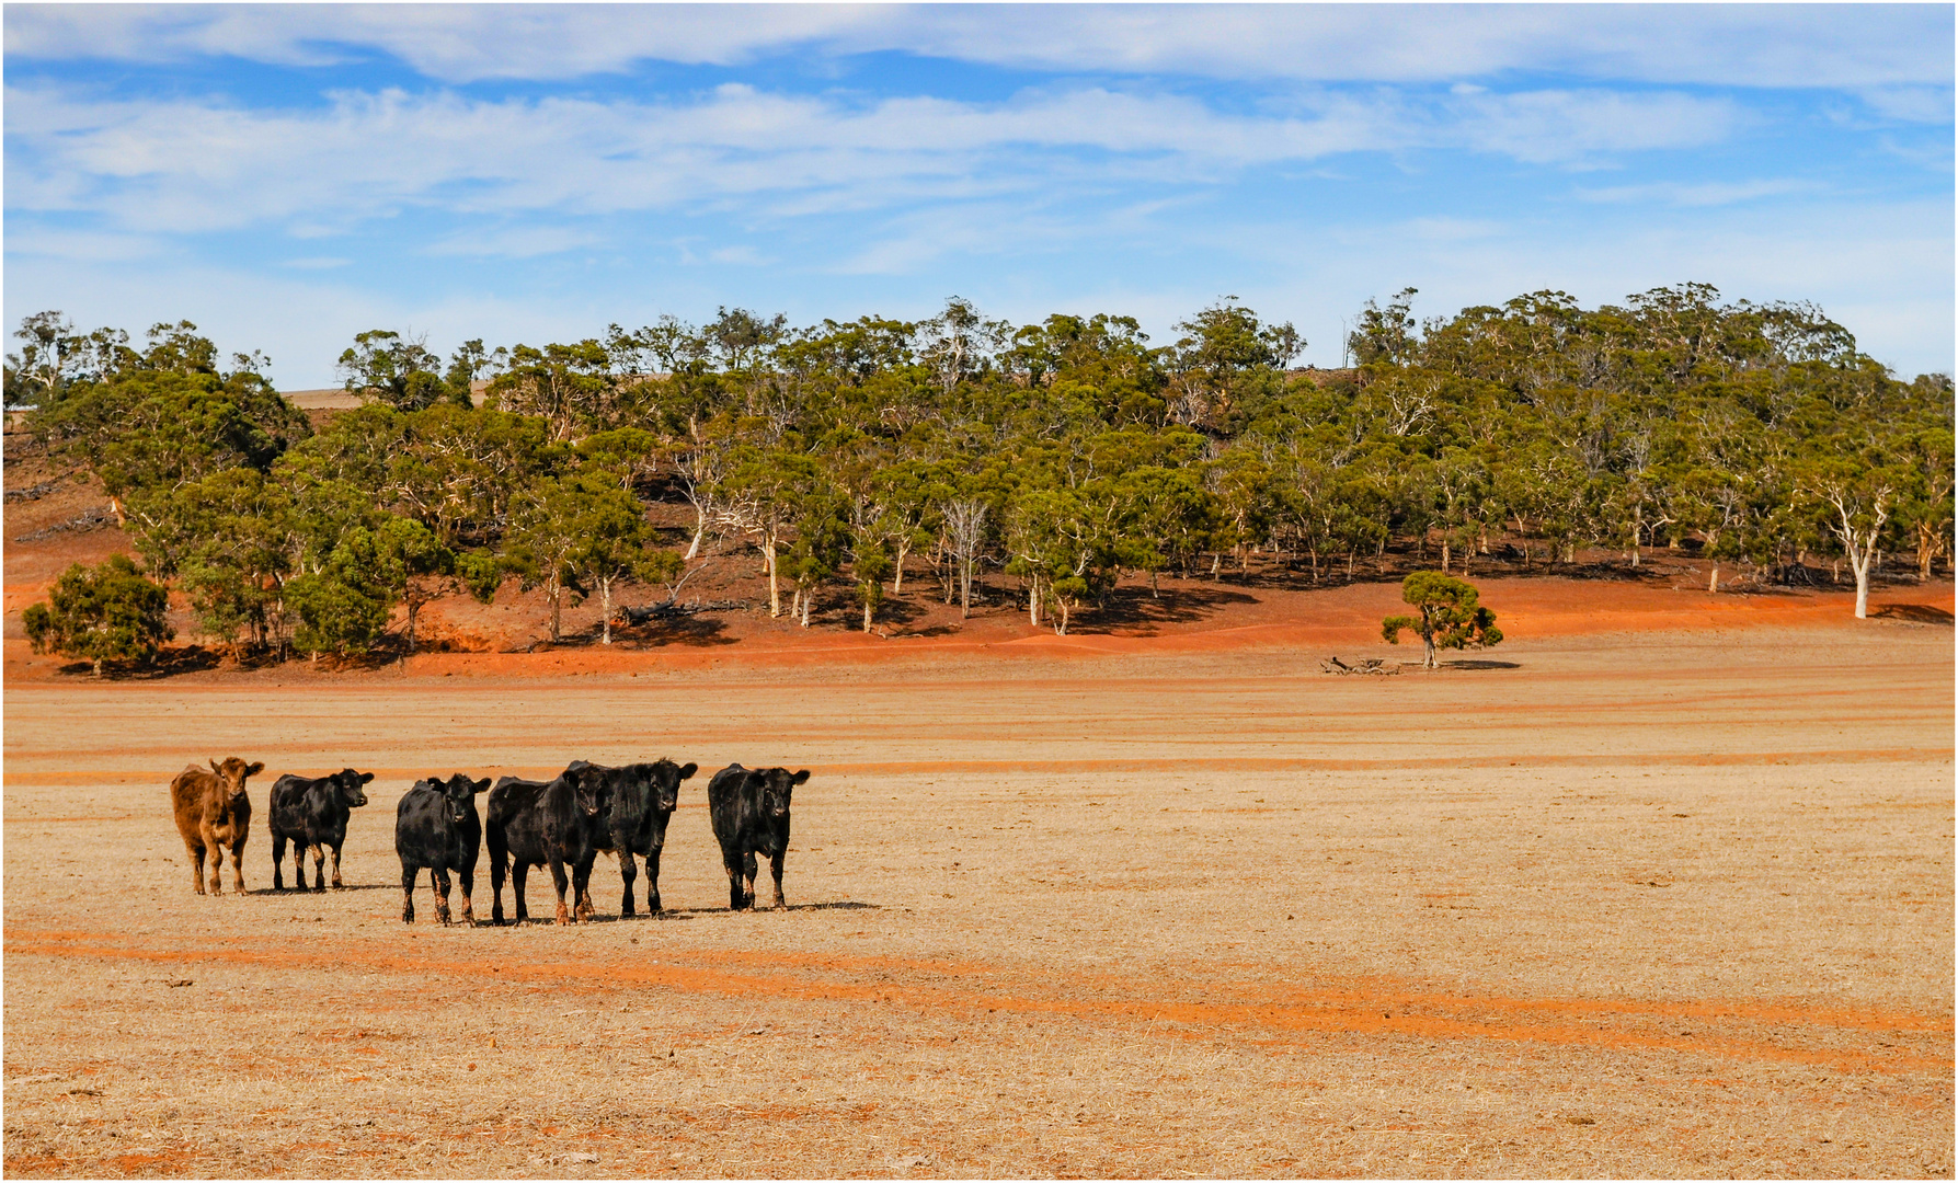
[[[558,923],[591,919],[591,860],[599,852],[597,778],[566,768],[556,780],[505,776],[490,791],[490,885],[495,889],[491,919],[503,923],[503,875],[511,875],[517,923],[531,919],[523,885],[535,866],[550,866],[558,889]],[[564,868],[570,866],[570,883]],[[572,887],[574,907],[564,909],[564,889]]]

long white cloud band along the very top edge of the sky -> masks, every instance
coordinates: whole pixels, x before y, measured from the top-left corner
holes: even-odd
[[[388,53],[444,82],[582,78],[646,61],[903,51],[1036,71],[1439,82],[1517,71],[1719,86],[1948,86],[1938,4],[10,4],[25,59]],[[1948,118],[1948,112],[1946,112]]]

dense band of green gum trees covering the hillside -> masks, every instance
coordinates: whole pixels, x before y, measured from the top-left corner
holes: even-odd
[[[1351,578],[1408,546],[1441,572],[1531,570],[1606,546],[1692,548],[1721,570],[1848,566],[1856,613],[1884,552],[1952,552],[1952,384],[1891,376],[1809,304],[1705,284],[1580,308],[1533,292],[1420,323],[1369,302],[1341,370],[1235,298],[1151,345],[1122,315],[789,327],[721,309],[446,360],[376,329],[341,358],[358,409],[313,431],[196,325],[22,325],[8,405],[98,478],[153,578],[239,650],[360,652],[405,607],[542,588],[662,586],[734,541],[769,613],[848,593],[869,629],[907,574],[961,615],[987,572],[1065,633],[1116,580],[1247,570]],[[646,503],[685,503],[666,541]],[[854,611],[854,609],[852,609]]]

